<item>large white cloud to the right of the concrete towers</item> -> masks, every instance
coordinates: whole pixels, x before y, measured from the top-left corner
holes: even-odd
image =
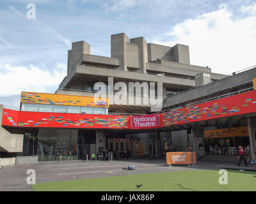
[[[172,41],[154,43],[189,45],[191,64],[209,66],[213,72],[229,74],[256,64],[256,3],[243,6],[243,18],[232,18],[227,6],[177,24],[166,33]],[[246,12],[246,15],[244,15]]]

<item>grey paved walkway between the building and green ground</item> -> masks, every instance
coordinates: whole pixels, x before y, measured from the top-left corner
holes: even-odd
[[[136,170],[122,170],[129,165],[136,166]],[[232,167],[232,164],[228,164]],[[236,165],[234,165],[236,166]],[[36,183],[54,182],[61,180],[92,179],[99,177],[113,177],[120,175],[132,175],[141,173],[159,173],[170,171],[191,171],[191,170],[220,170],[223,163],[198,162],[193,166],[171,166],[165,163],[165,159],[148,160],[133,159],[125,161],[74,161],[62,163],[38,163],[23,164],[15,166],[4,166],[0,169],[0,191],[32,191],[27,184],[27,170],[33,169],[36,172]],[[248,168],[255,168],[249,164]],[[241,166],[241,169],[243,166]]]

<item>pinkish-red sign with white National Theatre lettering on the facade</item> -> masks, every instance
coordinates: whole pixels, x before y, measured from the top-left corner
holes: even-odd
[[[158,115],[132,116],[132,128],[157,128]]]

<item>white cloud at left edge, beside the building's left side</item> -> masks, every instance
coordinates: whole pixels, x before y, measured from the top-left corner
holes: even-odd
[[[0,97],[20,94],[21,91],[45,92],[58,87],[67,73],[66,64],[57,64],[52,71],[44,71],[31,64],[10,66],[0,64]]]

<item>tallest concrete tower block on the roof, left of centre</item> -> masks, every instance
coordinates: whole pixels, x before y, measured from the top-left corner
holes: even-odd
[[[126,43],[129,43],[129,38],[125,33],[111,35],[111,57],[120,59],[124,71],[127,71]]]

